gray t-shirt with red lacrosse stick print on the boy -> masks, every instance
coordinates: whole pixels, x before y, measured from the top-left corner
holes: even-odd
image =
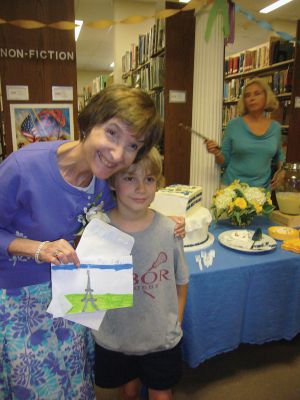
[[[176,285],[188,283],[182,239],[174,222],[155,213],[151,225],[134,237],[133,307],[106,312],[96,342],[109,350],[142,355],[171,349],[182,337]]]

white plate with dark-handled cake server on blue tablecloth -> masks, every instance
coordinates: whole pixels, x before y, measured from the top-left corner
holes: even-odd
[[[277,247],[276,241],[264,233],[262,239],[256,241],[253,245],[252,236],[254,232],[246,229],[233,229],[220,233],[218,239],[223,246],[247,253],[262,253],[272,251]]]

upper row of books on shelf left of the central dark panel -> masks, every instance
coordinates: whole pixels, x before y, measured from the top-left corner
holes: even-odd
[[[138,36],[138,44],[132,43],[130,49],[122,56],[122,72],[133,71],[150,61],[165,47],[165,20],[158,19],[146,34]]]

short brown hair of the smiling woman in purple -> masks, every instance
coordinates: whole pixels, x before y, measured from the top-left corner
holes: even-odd
[[[78,116],[80,140],[91,130],[111,118],[118,118],[133,130],[144,143],[137,154],[140,159],[157,144],[162,135],[162,121],[151,97],[141,89],[126,85],[110,85],[92,97]]]

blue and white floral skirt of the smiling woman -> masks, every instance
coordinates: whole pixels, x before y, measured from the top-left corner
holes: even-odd
[[[46,312],[49,283],[0,290],[0,399],[94,400],[89,329]]]

